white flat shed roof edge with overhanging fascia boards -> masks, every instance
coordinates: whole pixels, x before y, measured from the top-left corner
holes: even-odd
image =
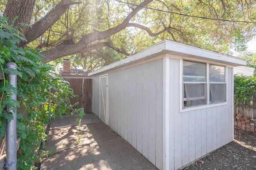
[[[122,66],[136,63],[151,57],[155,57],[162,54],[172,54],[183,57],[190,57],[192,59],[200,59],[212,62],[221,62],[224,64],[229,64],[233,66],[243,66],[246,65],[246,60],[239,59],[230,55],[225,55],[217,53],[214,51],[209,51],[199,47],[194,47],[192,45],[186,45],[183,43],[178,43],[170,40],[163,40],[155,45],[152,45],[138,53],[130,55],[120,61],[104,66],[94,72],[90,72],[89,76],[100,74],[105,71],[113,70]]]

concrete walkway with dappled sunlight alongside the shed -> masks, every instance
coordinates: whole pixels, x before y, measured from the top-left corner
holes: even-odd
[[[94,114],[52,120],[40,170],[157,170]],[[80,143],[78,143],[80,141]]]

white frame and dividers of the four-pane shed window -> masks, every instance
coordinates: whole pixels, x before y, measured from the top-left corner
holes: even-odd
[[[184,82],[183,81],[183,66],[184,66],[184,61],[190,61],[190,62],[195,62],[195,63],[204,63],[206,64],[206,104],[202,105],[196,105],[196,106],[188,106],[184,107],[184,84],[186,83],[196,83],[196,84],[202,84],[204,82]],[[210,82],[210,65],[215,65],[215,66],[223,66],[224,67],[224,76],[225,76],[225,81],[224,82]],[[203,108],[208,108],[208,107],[215,107],[215,106],[223,106],[227,104],[227,87],[228,87],[228,77],[227,77],[227,66],[219,63],[210,63],[206,61],[194,61],[190,59],[180,59],[180,112],[183,111],[190,111],[190,110],[196,110],[196,109],[203,109]],[[210,102],[210,84],[225,84],[225,92],[224,92],[224,102]],[[186,98],[185,98],[186,99]]]

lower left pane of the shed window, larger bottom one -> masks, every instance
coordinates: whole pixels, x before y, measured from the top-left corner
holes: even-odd
[[[184,107],[206,104],[206,84],[184,83]]]

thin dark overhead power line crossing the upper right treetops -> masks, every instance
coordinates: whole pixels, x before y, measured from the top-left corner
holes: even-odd
[[[201,17],[201,16],[192,16],[192,15],[181,14],[181,13],[176,13],[176,12],[158,10],[158,9],[150,8],[150,7],[143,7],[143,6],[140,6],[140,5],[132,4],[130,2],[123,2],[123,1],[120,1],[120,0],[114,0],[114,1],[121,2],[121,3],[124,3],[124,4],[134,5],[134,6],[150,9],[150,10],[156,10],[156,11],[159,11],[159,12],[165,12],[165,13],[169,13],[169,14],[177,14],[177,15],[180,15],[180,16],[187,16],[187,17],[193,17],[193,18],[202,18],[202,19],[206,19],[206,20],[226,21],[226,22],[256,23],[254,21],[224,20],[224,19],[217,19],[217,18],[207,18],[207,17]]]

